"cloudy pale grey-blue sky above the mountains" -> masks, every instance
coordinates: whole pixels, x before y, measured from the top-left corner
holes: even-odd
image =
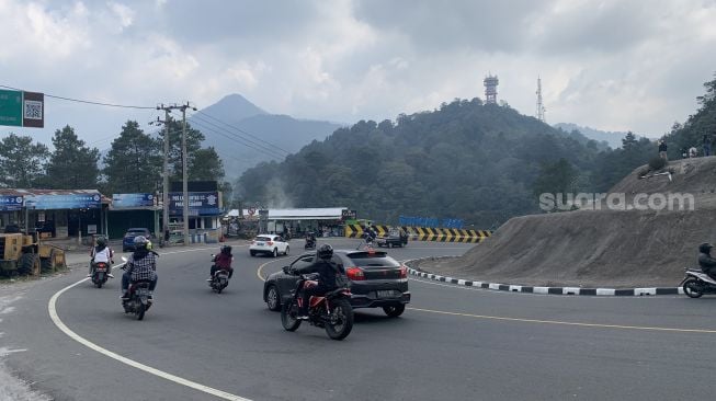
[[[498,100],[546,119],[658,137],[716,72],[716,0],[0,0],[0,85],[45,98],[49,144],[70,125],[109,148],[159,103],[239,93],[298,118],[354,124]],[[52,148],[50,148],[52,149]]]

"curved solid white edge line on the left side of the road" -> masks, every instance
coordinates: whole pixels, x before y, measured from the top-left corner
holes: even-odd
[[[140,364],[138,362],[132,360],[132,359],[129,359],[127,357],[124,357],[124,356],[122,356],[120,354],[116,354],[116,353],[113,353],[113,352],[111,352],[109,350],[105,350],[105,348],[92,343],[91,341],[78,335],[77,333],[75,333],[72,330],[70,330],[59,319],[59,316],[57,314],[57,299],[59,299],[59,296],[61,296],[68,289],[72,288],[75,286],[78,286],[81,283],[87,282],[88,279],[89,279],[89,277],[83,278],[83,279],[81,279],[81,280],[79,280],[79,282],[77,282],[75,284],[71,284],[71,285],[60,289],[59,291],[55,293],[55,295],[53,295],[53,297],[49,299],[49,303],[47,305],[47,310],[49,311],[49,317],[53,320],[53,323],[55,323],[55,325],[59,330],[61,330],[65,334],[67,334],[70,339],[72,339],[72,340],[77,341],[78,343],[87,346],[88,348],[94,350],[94,351],[99,352],[100,354],[109,356],[109,357],[111,357],[111,358],[113,358],[115,360],[118,360],[118,362],[121,362],[121,363],[123,363],[125,365],[129,365],[129,366],[132,366],[134,368],[137,368],[139,370],[144,370],[144,371],[146,371],[148,374],[155,375],[155,376],[160,377],[162,379],[173,381],[173,382],[175,382],[178,385],[186,386],[186,387],[190,387],[190,388],[192,388],[194,390],[198,390],[198,391],[205,392],[207,394],[218,397],[218,398],[224,399],[224,400],[251,401],[248,398],[243,398],[243,397],[231,394],[231,393],[226,392],[226,391],[217,390],[215,388],[204,386],[204,385],[191,381],[191,380],[186,380],[186,379],[181,378],[179,376],[174,376],[172,374],[168,374],[166,371],[152,368],[151,366],[147,366],[147,365]]]

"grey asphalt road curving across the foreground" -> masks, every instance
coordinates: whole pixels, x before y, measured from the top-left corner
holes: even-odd
[[[260,276],[293,260],[303,241],[292,244],[277,260],[235,245],[236,272],[220,295],[204,280],[216,247],[160,250],[157,301],[144,321],[123,312],[118,278],[67,288],[82,266],[46,279],[21,290],[2,317],[0,346],[15,351],[5,363],[34,389],[78,401],[674,400],[712,388],[716,297],[543,296],[411,278],[402,317],[357,310],[338,342],[307,324],[284,331],[262,302]],[[469,247],[411,242],[389,253],[407,260]]]

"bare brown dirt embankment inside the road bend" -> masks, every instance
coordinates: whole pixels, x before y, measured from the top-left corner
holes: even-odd
[[[716,157],[670,163],[667,175],[636,169],[610,193],[694,196],[693,210],[577,210],[510,219],[462,257],[416,267],[481,282],[534,286],[674,287],[716,242]]]

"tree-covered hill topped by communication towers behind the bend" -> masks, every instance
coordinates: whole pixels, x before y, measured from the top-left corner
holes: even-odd
[[[538,211],[535,182],[545,174],[542,184],[552,180],[550,167],[566,165],[568,190],[609,187],[613,182],[592,179],[605,156],[580,134],[554,129],[509,106],[456,100],[396,122],[340,128],[284,162],[246,171],[238,191],[245,202],[273,207],[345,206],[388,224],[404,215],[461,218],[489,228]],[[560,159],[568,163],[557,164]]]

